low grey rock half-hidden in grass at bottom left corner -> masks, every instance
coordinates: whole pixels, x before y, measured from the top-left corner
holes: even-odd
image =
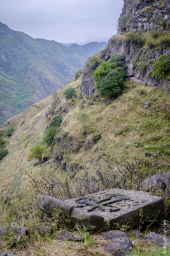
[[[26,230],[25,227],[19,226],[11,226],[9,228],[0,228],[0,235],[1,236],[13,236],[15,239],[19,240],[21,238],[26,237]]]

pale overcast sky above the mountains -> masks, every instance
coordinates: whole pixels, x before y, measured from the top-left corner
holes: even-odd
[[[34,38],[106,41],[117,33],[123,0],[0,0],[0,21]]]

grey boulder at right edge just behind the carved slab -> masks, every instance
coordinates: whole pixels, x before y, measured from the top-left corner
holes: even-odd
[[[166,189],[169,188],[170,172],[169,173],[159,173],[153,175],[152,177],[145,179],[142,183],[142,188],[147,191],[152,191],[152,189]]]

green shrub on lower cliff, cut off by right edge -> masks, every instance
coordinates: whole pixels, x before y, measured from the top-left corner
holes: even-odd
[[[170,58],[168,54],[160,55],[152,65],[152,77],[161,79],[166,78],[170,70]]]

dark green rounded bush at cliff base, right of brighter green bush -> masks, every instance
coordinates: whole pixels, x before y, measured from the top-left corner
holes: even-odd
[[[117,67],[111,70],[101,81],[96,88],[101,95],[117,96],[122,90],[124,84],[125,70],[122,67]]]

